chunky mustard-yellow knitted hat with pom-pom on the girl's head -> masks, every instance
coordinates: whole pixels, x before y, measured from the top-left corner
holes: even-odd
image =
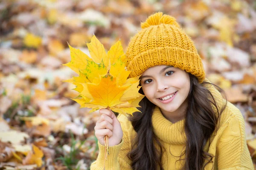
[[[171,65],[205,78],[204,67],[191,38],[172,16],[157,12],[141,23],[142,30],[131,38],[126,56],[129,78],[157,65]]]

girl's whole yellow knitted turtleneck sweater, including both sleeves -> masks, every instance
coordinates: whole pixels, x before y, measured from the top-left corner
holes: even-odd
[[[207,89],[212,92],[217,104],[224,103],[224,99],[214,86],[207,85]],[[122,126],[123,138],[120,144],[109,147],[105,170],[132,170],[127,153],[131,151],[132,141],[137,133],[125,115],[119,115],[118,120]],[[172,124],[162,115],[159,107],[156,107],[152,114],[152,124],[154,134],[167,151],[163,153],[162,158],[164,170],[180,170],[184,162],[177,161],[175,164],[179,159],[175,156],[180,156],[186,145],[184,119]],[[105,146],[99,144],[99,155],[91,164],[91,170],[104,169],[104,151]],[[244,118],[239,109],[230,102],[221,115],[218,132],[211,137],[211,144],[205,146],[204,151],[215,156],[213,163],[208,163],[205,170],[211,170],[212,167],[213,170],[253,170],[253,162],[245,139]]]

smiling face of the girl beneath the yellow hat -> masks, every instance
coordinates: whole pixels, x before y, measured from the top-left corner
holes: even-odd
[[[154,66],[143,72],[140,84],[148,100],[160,107],[163,113],[185,111],[190,89],[187,72],[173,66]]]

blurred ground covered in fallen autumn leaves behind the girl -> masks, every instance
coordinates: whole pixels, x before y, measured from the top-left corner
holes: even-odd
[[[79,108],[67,43],[90,55],[93,34],[124,51],[154,12],[174,16],[192,37],[207,78],[245,120],[256,164],[255,0],[1,0],[0,170],[89,170],[98,155],[99,113]],[[256,168],[255,168],[256,169]]]

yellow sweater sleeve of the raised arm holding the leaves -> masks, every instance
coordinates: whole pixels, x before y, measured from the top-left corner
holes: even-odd
[[[117,118],[119,119],[119,117]],[[132,170],[131,160],[127,156],[128,152],[130,152],[127,127],[125,125],[125,122],[123,121],[120,121],[120,124],[123,130],[123,138],[121,143],[115,146],[108,147],[109,155],[107,156],[107,160],[105,161],[105,146],[99,144],[98,141],[99,155],[96,161],[91,164],[90,170],[104,170],[104,162],[105,170]]]

